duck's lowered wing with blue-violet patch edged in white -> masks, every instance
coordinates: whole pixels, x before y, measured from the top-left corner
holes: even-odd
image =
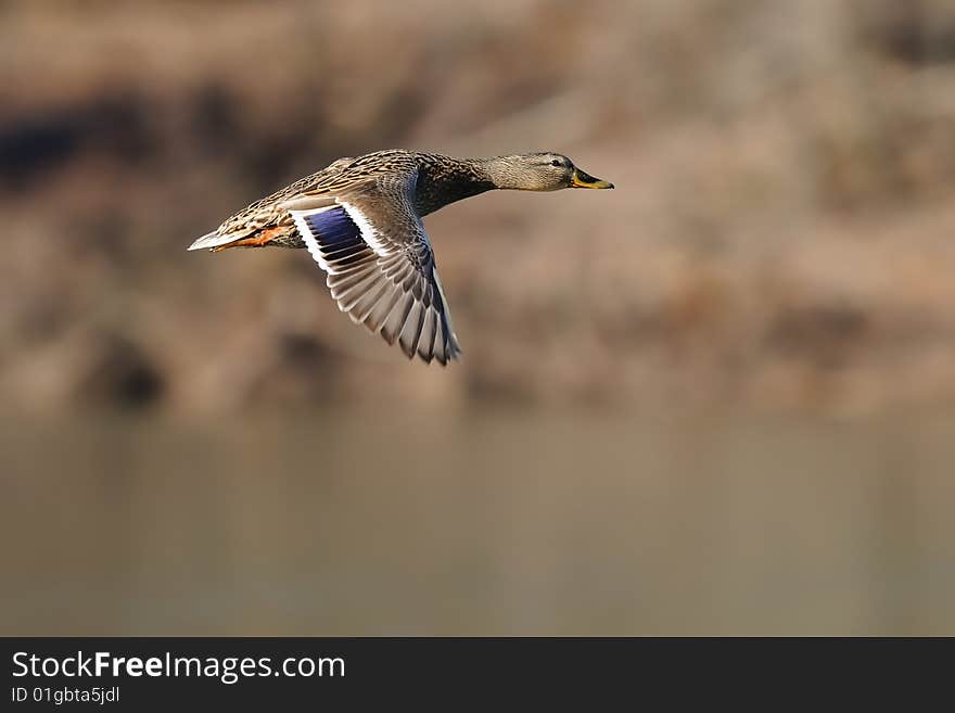
[[[353,321],[396,341],[413,358],[442,365],[461,352],[434,253],[415,213],[417,174],[392,175],[291,209],[308,252],[328,272],[332,297]]]

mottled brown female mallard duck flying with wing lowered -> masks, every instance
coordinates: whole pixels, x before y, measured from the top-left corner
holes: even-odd
[[[461,355],[422,218],[492,190],[612,189],[550,151],[491,158],[390,149],[343,157],[255,201],[188,250],[305,249],[352,321],[442,366]]]

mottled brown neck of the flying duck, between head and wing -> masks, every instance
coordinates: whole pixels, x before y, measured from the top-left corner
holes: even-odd
[[[415,208],[418,215],[425,216],[450,203],[495,188],[502,187],[495,180],[492,163],[487,158],[421,154]]]

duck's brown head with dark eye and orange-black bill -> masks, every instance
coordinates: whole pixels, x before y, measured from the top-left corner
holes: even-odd
[[[498,156],[486,164],[487,175],[497,188],[518,191],[559,191],[562,188],[613,188],[574,166],[560,153],[525,153]]]

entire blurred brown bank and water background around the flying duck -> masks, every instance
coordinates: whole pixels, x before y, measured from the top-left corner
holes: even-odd
[[[955,634],[955,4],[0,1],[0,634]],[[343,155],[464,349],[302,251]]]

